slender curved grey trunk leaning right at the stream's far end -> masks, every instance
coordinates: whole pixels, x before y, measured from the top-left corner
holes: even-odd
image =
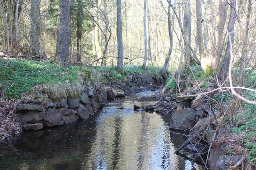
[[[170,1],[170,3],[171,3],[171,1]],[[174,4],[175,3],[176,2],[174,2]],[[171,18],[171,5],[169,4],[169,6],[168,6],[168,33],[169,33],[169,37],[170,37],[170,47],[169,47],[168,55],[166,57],[166,61],[164,62],[163,72],[168,70],[171,53],[173,51],[173,28],[172,28],[173,24],[174,24],[174,14],[172,15],[172,18]]]

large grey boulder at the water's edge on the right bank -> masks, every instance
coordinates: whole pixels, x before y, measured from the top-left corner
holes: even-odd
[[[193,109],[181,109],[171,116],[170,128],[190,130],[195,124],[196,111]]]

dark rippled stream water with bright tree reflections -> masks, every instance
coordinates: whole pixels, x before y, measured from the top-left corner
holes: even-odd
[[[199,169],[174,154],[174,144],[184,139],[170,134],[160,115],[133,110],[134,104],[152,104],[155,92],[118,99],[87,120],[24,133],[14,147],[0,153],[0,169]]]

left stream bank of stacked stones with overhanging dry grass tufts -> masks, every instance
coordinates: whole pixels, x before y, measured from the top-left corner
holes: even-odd
[[[15,126],[6,127],[5,124],[1,124],[4,129],[9,128],[11,132],[1,136],[1,145],[17,140],[24,130],[40,130],[44,127],[62,126],[78,119],[87,119],[115,98],[145,89],[160,88],[165,84],[167,77],[168,73],[155,76],[145,72],[130,73],[125,75],[124,79],[117,80],[108,72],[99,73],[94,70],[81,73],[80,82],[75,85],[66,83],[68,85],[65,84],[65,87],[58,84],[44,86],[36,95],[25,96],[14,104],[16,113],[7,120]],[[16,128],[17,131],[12,128]]]

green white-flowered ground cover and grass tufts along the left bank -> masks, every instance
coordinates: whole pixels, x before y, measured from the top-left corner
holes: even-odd
[[[32,87],[35,85],[44,84],[50,86],[56,84],[56,86],[65,87],[68,97],[75,98],[81,91],[81,87],[78,88],[76,84],[79,81],[79,77],[82,77],[83,82],[91,78],[93,79],[91,81],[97,79],[103,82],[109,81],[102,76],[103,73],[108,73],[114,80],[125,80],[127,75],[145,73],[156,76],[161,75],[161,68],[153,66],[147,66],[146,71],[141,66],[124,67],[124,75],[112,67],[97,67],[97,75],[94,75],[94,77],[91,76],[92,70],[93,67],[80,68],[78,66],[70,66],[68,69],[64,69],[51,62],[0,59],[0,90],[4,91],[3,98],[13,99],[21,98],[21,93],[24,92],[32,93]],[[67,84],[69,84],[69,87],[67,87]],[[53,91],[56,92],[54,88],[56,87],[53,86],[48,89],[49,94]],[[71,93],[70,90],[77,91],[77,93]],[[61,98],[63,96],[64,94],[61,95]]]

